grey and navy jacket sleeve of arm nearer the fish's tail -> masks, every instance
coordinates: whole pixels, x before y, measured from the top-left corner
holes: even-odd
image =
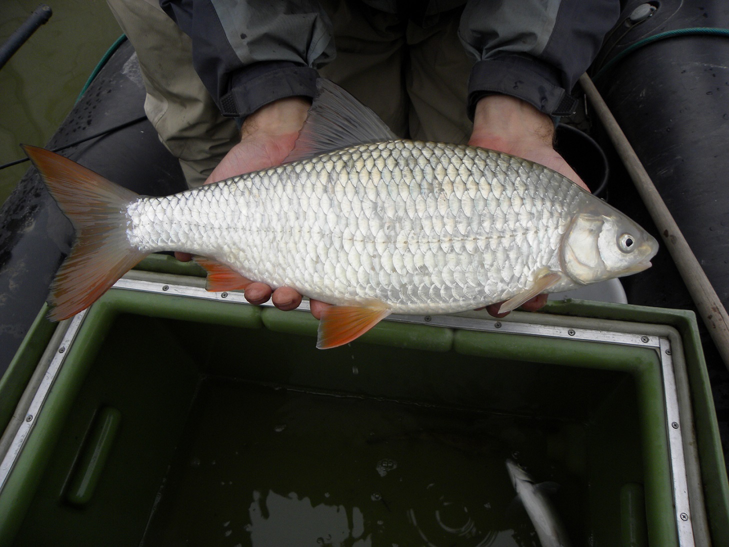
[[[192,39],[192,63],[221,112],[247,116],[271,101],[313,97],[316,69],[335,55],[316,0],[160,0]]]

